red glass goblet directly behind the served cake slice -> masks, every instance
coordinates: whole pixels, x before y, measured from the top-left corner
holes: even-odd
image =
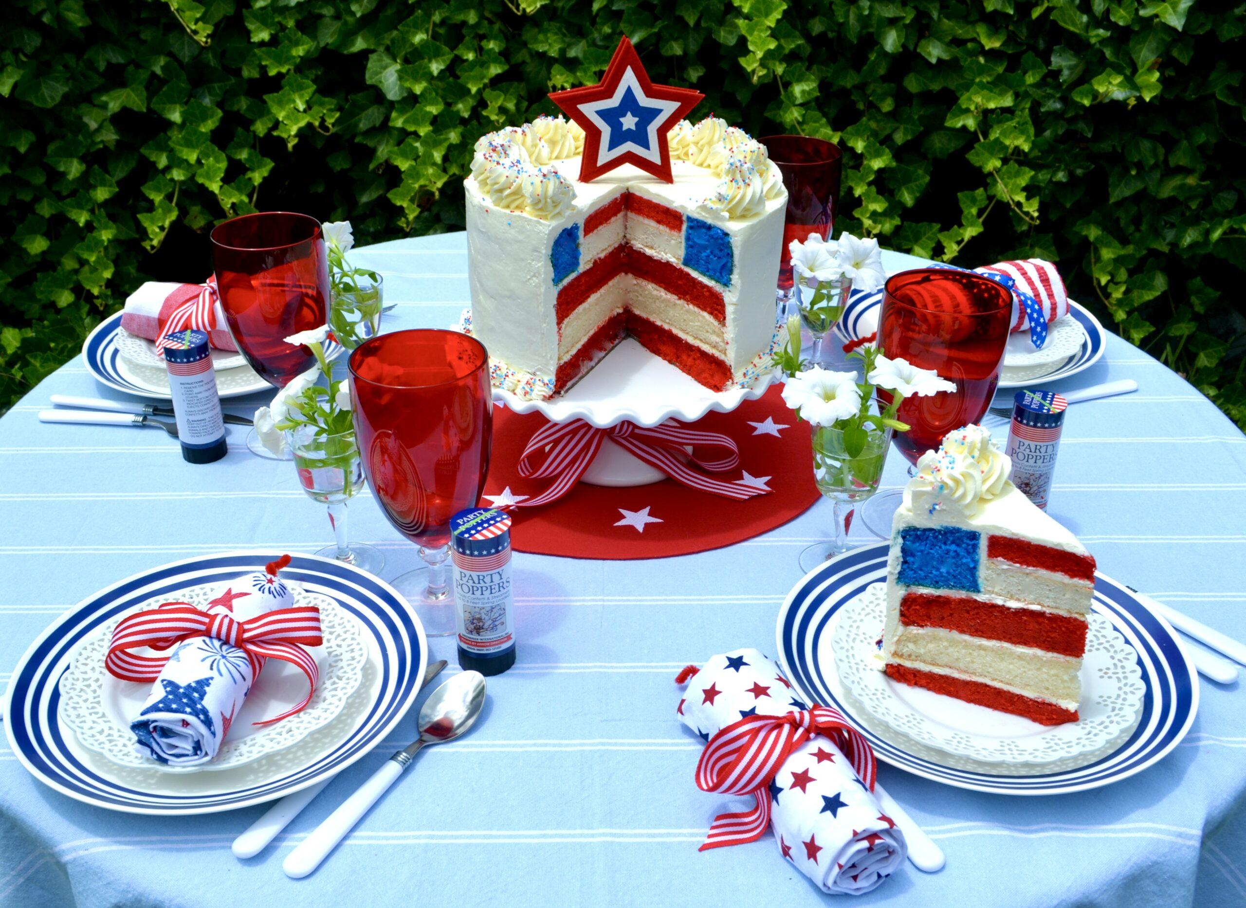
[[[913,396],[900,405],[897,419],[910,428],[896,432],[892,443],[911,465],[938,448],[948,432],[986,415],[999,384],[1012,303],[1007,288],[973,272],[916,268],[887,279],[878,349],[890,359],[933,369],[956,385],[954,391]],[[882,390],[878,396],[891,400]],[[876,536],[891,536],[891,516],[901,494],[876,494],[861,508],[866,527]]]

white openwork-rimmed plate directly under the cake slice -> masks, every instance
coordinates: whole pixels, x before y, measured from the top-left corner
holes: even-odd
[[[1101,615],[1090,615],[1080,720],[1054,726],[891,680],[877,648],[885,615],[882,583],[844,607],[832,644],[835,668],[872,716],[916,741],[987,764],[1048,764],[1099,750],[1138,717],[1143,704],[1138,656]]]

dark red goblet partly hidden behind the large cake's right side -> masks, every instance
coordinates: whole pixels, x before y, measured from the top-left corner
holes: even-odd
[[[834,142],[809,136],[766,136],[760,142],[779,167],[787,189],[778,286],[779,305],[786,308],[792,284],[787,245],[794,239],[804,242],[810,233],[822,239],[831,235],[840,198],[842,154]]]

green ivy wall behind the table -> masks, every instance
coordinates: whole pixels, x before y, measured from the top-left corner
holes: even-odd
[[[845,148],[837,228],[1073,295],[1246,425],[1246,5],[1200,0],[12,0],[0,32],[0,407],[207,230],[295,207],[459,229],[482,132],[625,32],[754,135]],[[694,118],[695,118],[694,115]]]

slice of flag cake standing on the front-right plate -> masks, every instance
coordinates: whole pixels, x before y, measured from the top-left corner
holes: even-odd
[[[890,678],[1043,725],[1078,720],[1094,558],[981,426],[917,461],[887,562]]]

